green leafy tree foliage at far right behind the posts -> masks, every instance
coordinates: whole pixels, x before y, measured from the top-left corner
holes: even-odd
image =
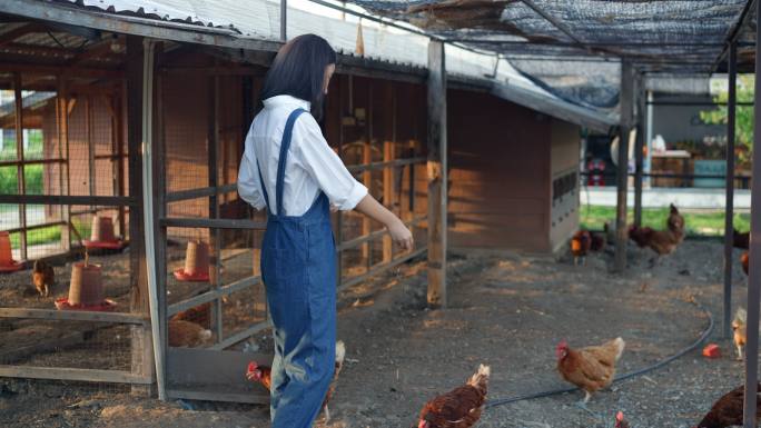
[[[753,102],[753,86],[755,78],[753,74],[738,76],[738,103]],[[700,112],[700,119],[706,125],[727,125],[727,101],[729,92],[721,91],[713,97],[713,102],[723,103],[714,110]],[[738,160],[747,163],[751,160],[753,151],[753,106],[738,106],[735,117],[735,145]]]

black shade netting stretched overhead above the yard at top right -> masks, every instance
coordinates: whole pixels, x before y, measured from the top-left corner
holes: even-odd
[[[538,10],[514,0],[353,2],[502,53],[551,93],[611,110],[619,100],[620,58],[646,72],[710,72],[748,0],[534,0]],[[754,24],[749,29],[745,42],[754,40]],[[740,52],[753,49],[741,46]]]

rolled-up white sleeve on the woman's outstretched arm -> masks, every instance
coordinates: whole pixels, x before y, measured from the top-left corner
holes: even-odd
[[[353,210],[367,196],[367,188],[357,181],[328,146],[319,125],[310,115],[302,115],[294,126],[295,147],[304,168],[339,210]],[[295,145],[294,145],[295,143]]]

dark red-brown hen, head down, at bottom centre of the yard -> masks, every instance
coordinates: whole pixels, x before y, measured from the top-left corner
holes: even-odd
[[[417,428],[468,428],[481,418],[491,368],[478,366],[465,385],[425,404]]]

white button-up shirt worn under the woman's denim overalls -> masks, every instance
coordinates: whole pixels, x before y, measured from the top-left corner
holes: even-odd
[[[269,196],[269,208],[277,212],[275,183],[280,142],[288,116],[296,109],[307,111],[294,125],[290,150],[285,165],[283,209],[287,216],[304,215],[324,191],[334,208],[352,210],[367,195],[367,188],[346,169],[325,141],[310,104],[290,96],[264,100],[264,109],[254,118],[246,136],[246,148],[238,171],[238,193],[257,210],[266,207],[258,168]],[[257,166],[258,159],[258,166]]]

